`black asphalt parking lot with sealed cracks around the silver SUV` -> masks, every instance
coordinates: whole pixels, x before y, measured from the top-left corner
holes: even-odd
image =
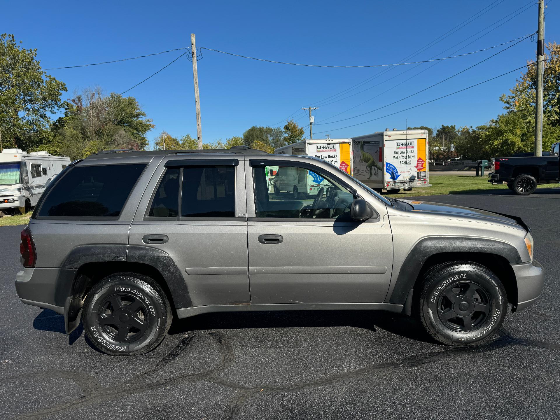
[[[533,228],[543,295],[478,348],[431,342],[371,311],[206,314],[155,351],[111,357],[18,300],[21,226],[0,227],[0,418],[560,417],[560,188],[426,200],[515,214]]]

